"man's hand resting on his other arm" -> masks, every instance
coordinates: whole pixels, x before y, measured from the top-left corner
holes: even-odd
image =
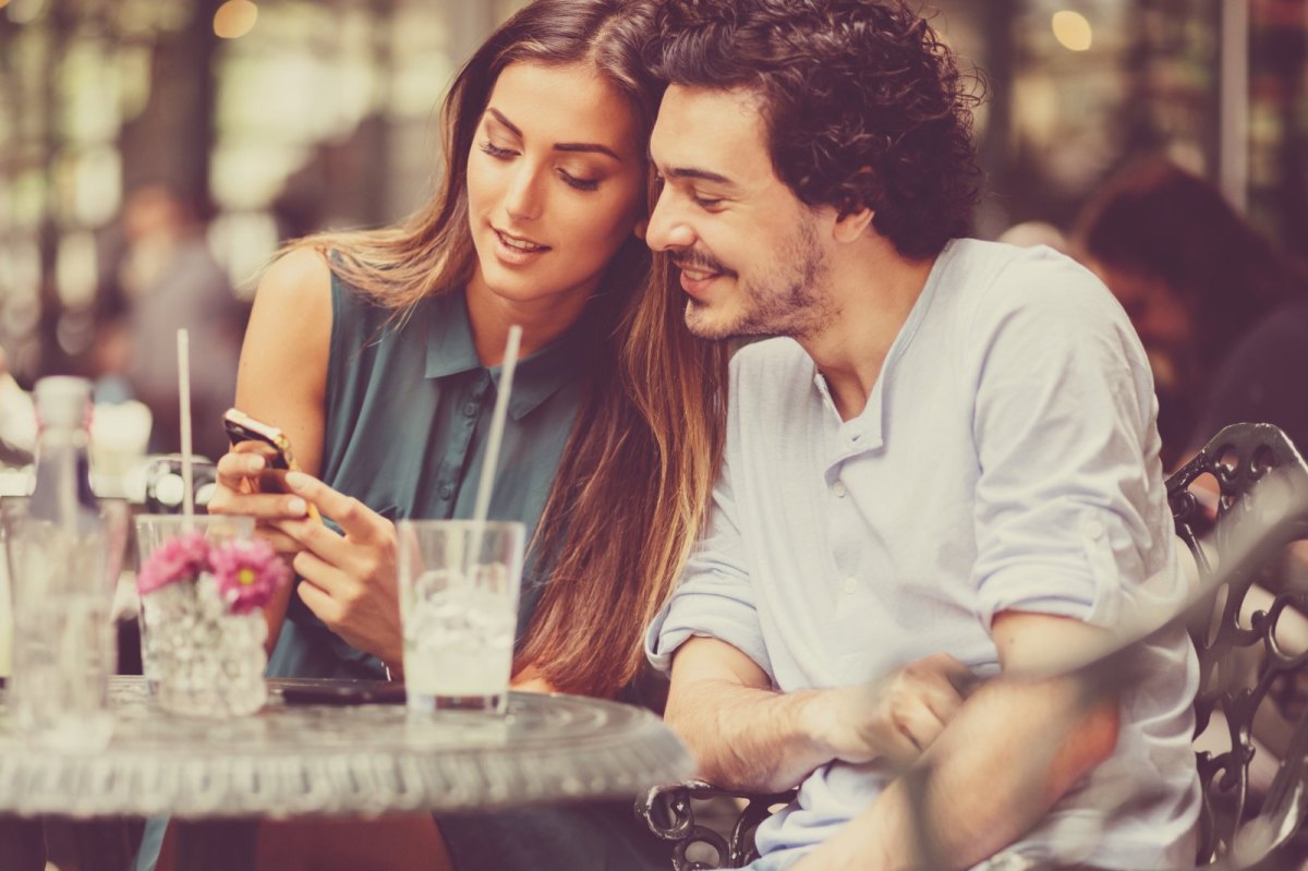
[[[961,662],[935,654],[879,681],[815,696],[806,726],[831,749],[832,759],[909,765],[959,713],[972,680]]]

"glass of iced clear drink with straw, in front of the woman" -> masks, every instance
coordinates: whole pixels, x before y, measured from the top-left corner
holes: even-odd
[[[522,523],[402,521],[400,616],[411,710],[502,714],[522,583]]]

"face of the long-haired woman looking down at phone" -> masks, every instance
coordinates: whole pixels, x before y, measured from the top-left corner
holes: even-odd
[[[510,64],[468,154],[473,292],[579,311],[633,230],[644,233],[645,141],[586,64]],[[637,226],[637,222],[641,226]]]

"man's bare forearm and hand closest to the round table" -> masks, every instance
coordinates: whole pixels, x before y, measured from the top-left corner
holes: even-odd
[[[937,655],[876,684],[778,693],[749,657],[695,637],[672,660],[664,718],[705,779],[780,793],[836,759],[908,764],[957,713],[969,679],[965,666]]]

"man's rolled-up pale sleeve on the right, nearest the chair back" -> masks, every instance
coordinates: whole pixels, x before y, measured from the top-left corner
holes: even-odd
[[[978,617],[1003,611],[1112,626],[1165,562],[1148,365],[1125,314],[1088,276],[1050,271],[1008,301],[980,352],[973,581]],[[1152,488],[1152,489],[1151,489]],[[1125,594],[1125,596],[1124,596]]]

